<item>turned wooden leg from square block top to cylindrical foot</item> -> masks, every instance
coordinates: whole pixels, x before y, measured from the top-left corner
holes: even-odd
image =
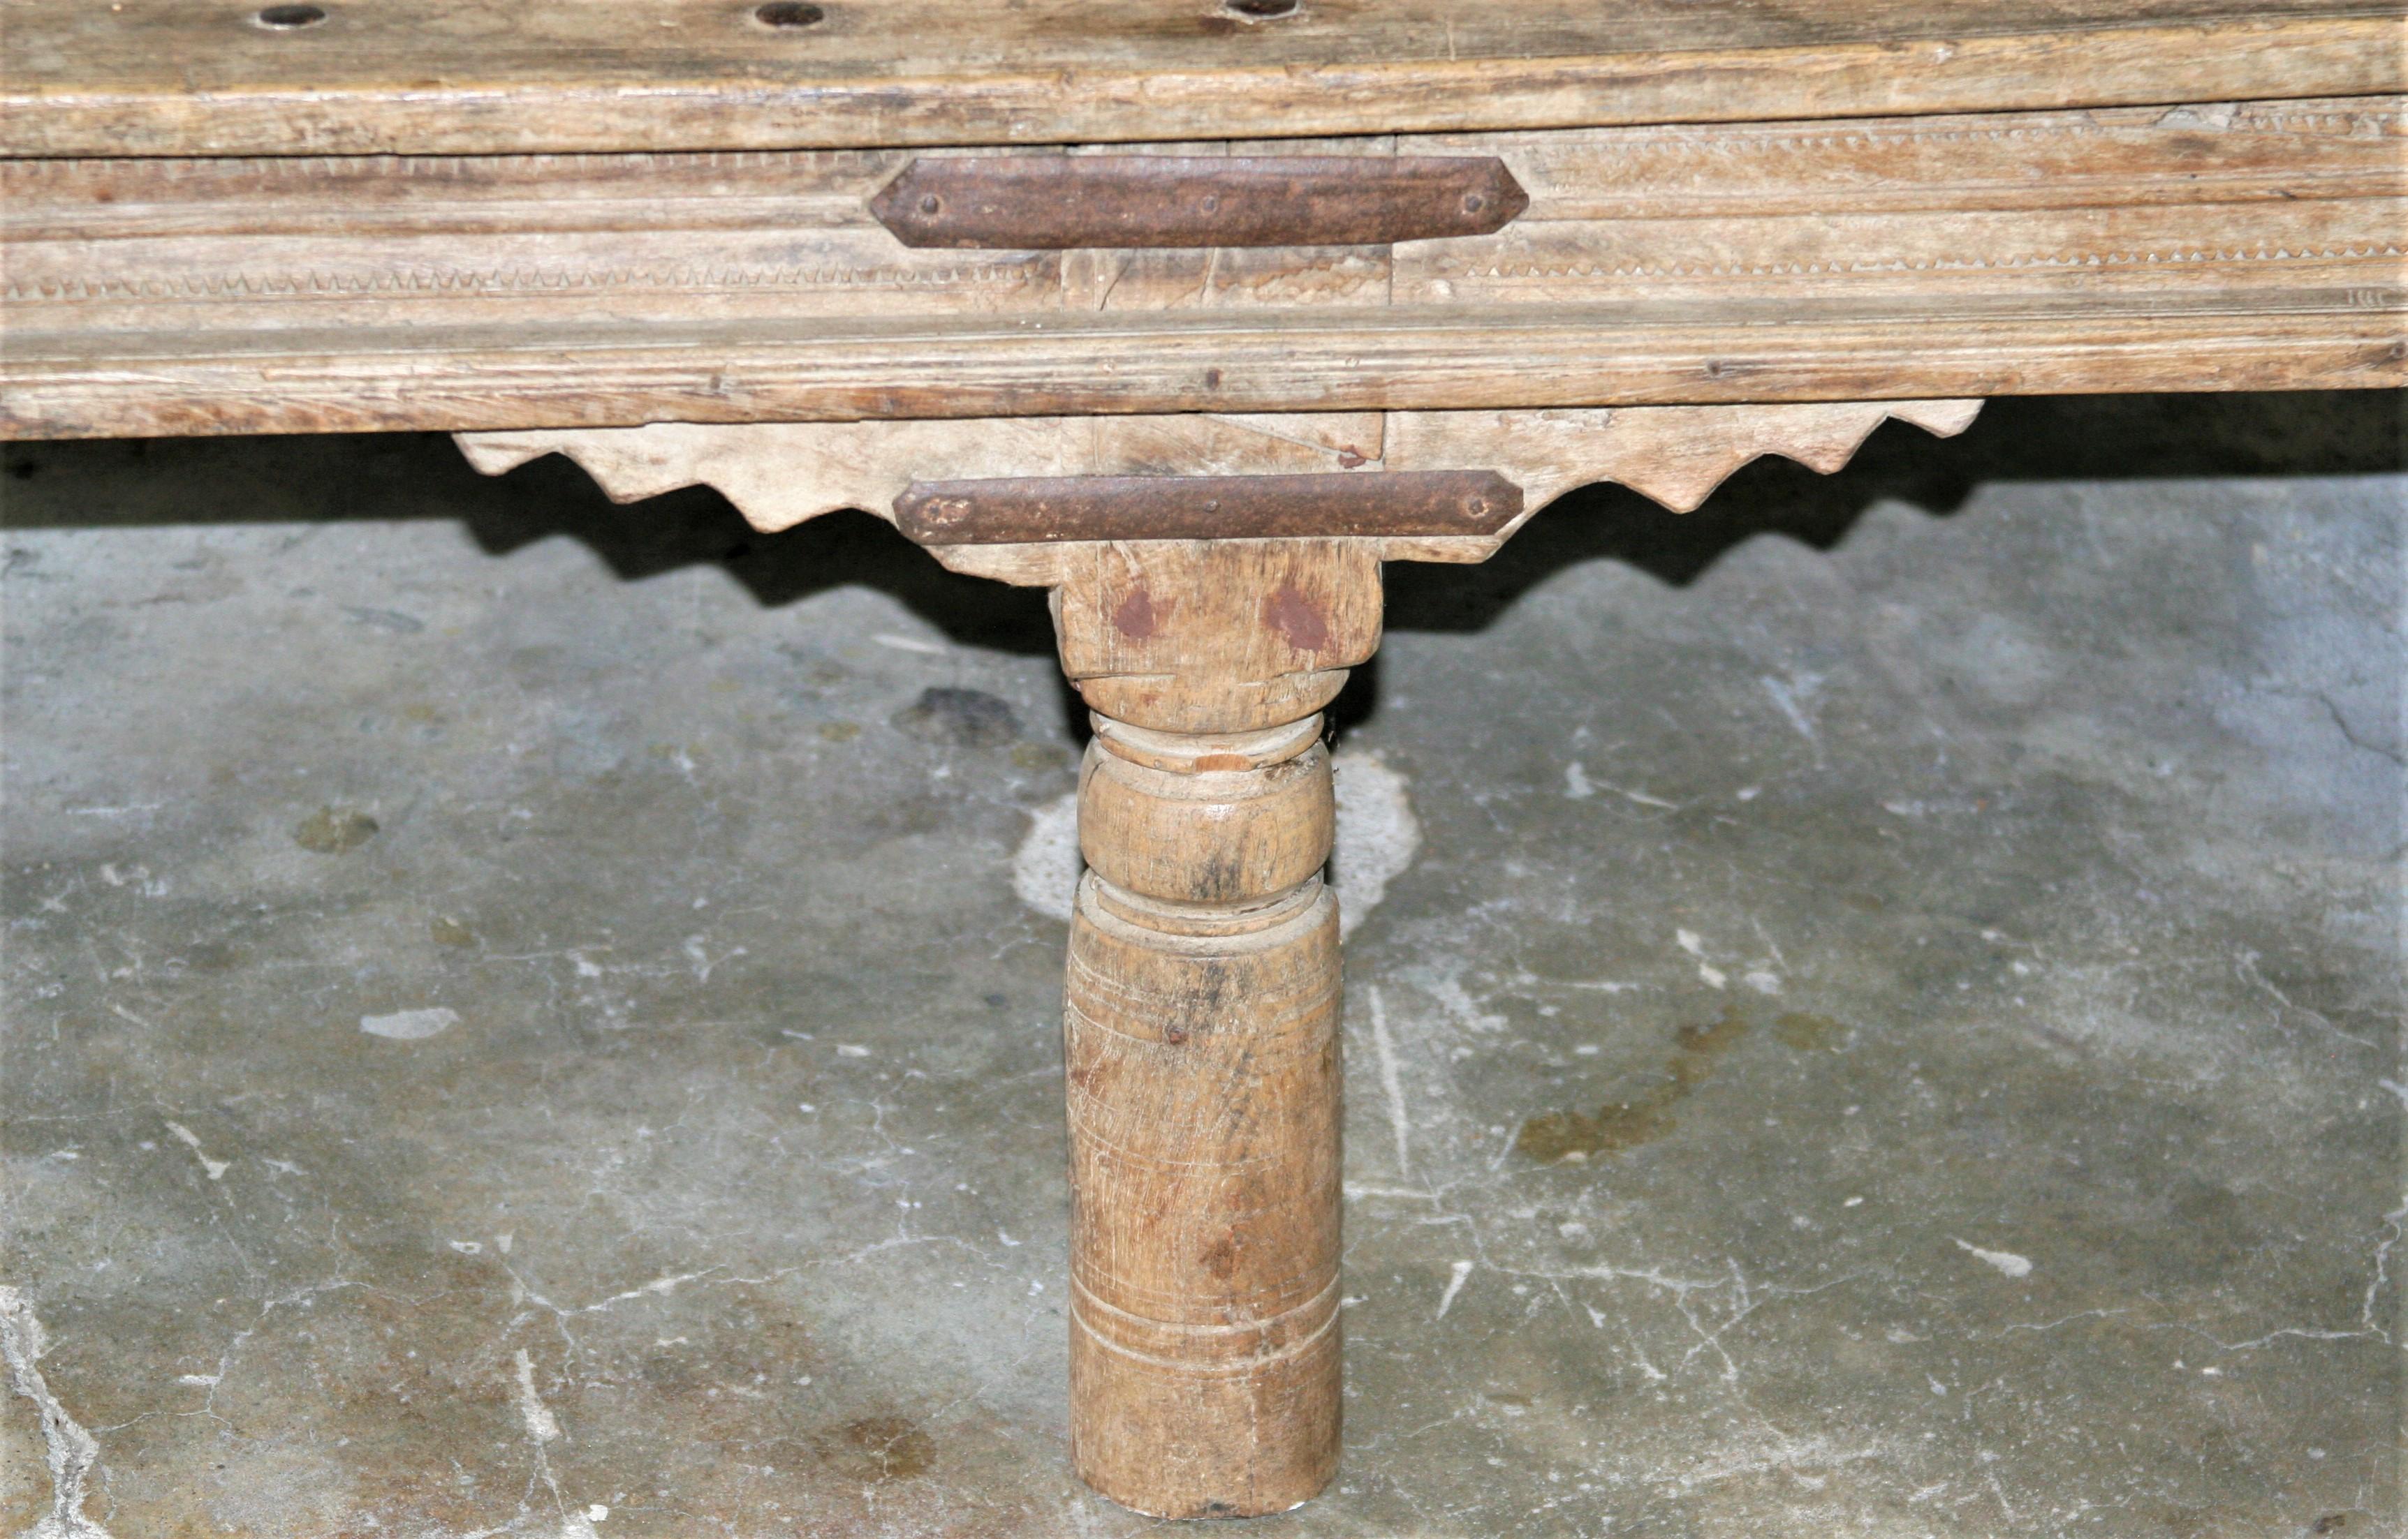
[[[1072,1460],[1165,1517],[1339,1457],[1339,914],[1320,707],[1377,644],[1348,541],[1134,543],[1057,589],[1096,707],[1064,1056]]]

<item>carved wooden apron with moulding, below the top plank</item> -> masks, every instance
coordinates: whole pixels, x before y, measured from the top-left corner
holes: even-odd
[[[1493,236],[908,250],[905,151],[0,164],[0,433],[2403,380],[2401,99],[1454,135]]]

